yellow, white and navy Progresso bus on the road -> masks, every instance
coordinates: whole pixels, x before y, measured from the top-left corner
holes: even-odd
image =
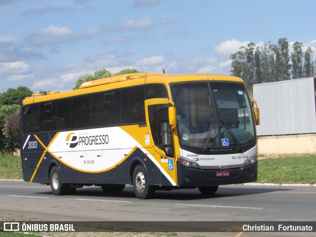
[[[23,179],[54,195],[84,186],[136,197],[257,180],[259,109],[244,81],[204,74],[125,74],[21,104]]]

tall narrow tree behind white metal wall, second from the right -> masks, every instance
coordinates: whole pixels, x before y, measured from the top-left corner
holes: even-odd
[[[292,57],[292,79],[303,77],[303,44],[295,41],[293,44]]]

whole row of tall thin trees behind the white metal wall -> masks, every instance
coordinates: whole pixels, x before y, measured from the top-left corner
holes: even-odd
[[[238,52],[231,55],[231,74],[244,79],[247,86],[253,83],[313,77],[316,70],[313,49],[309,47],[303,53],[303,44],[298,41],[292,48],[290,57],[286,38],[280,38],[277,44],[269,41],[256,49],[255,44],[250,42],[247,47],[240,47]]]

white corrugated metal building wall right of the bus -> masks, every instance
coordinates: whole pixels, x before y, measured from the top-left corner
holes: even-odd
[[[315,79],[253,85],[260,109],[258,136],[316,133]]]

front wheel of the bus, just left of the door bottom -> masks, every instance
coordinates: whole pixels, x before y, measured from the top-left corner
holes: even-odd
[[[148,184],[147,174],[142,165],[137,165],[133,172],[133,187],[136,197],[148,199],[154,197],[156,187]]]

